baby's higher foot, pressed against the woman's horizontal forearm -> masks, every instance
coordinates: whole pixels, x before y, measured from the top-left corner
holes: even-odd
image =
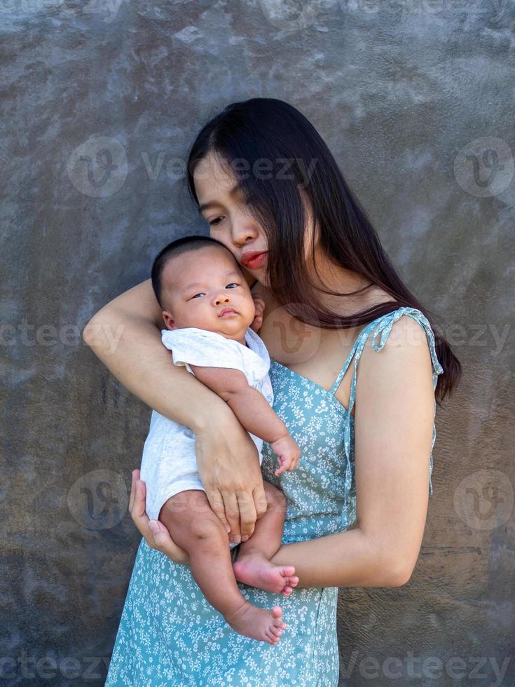
[[[294,576],[292,565],[274,565],[259,551],[238,553],[238,559],[233,563],[235,578],[245,585],[258,587],[267,592],[282,594],[289,597],[293,587],[298,585],[298,577]]]

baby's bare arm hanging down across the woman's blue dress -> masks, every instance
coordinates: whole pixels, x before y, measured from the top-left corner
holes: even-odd
[[[191,369],[195,377],[227,402],[247,432],[270,444],[279,456],[276,475],[296,468],[301,449],[263,394],[249,385],[245,374],[229,367],[191,365]]]

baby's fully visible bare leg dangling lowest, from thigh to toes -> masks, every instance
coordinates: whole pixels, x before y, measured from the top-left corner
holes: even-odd
[[[236,632],[277,644],[286,625],[282,608],[249,604],[236,583],[228,535],[204,491],[190,489],[169,498],[159,514],[172,539],[190,557],[191,574],[207,601]]]

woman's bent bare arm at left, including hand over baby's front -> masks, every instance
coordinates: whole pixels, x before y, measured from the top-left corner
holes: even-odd
[[[83,339],[125,388],[195,433],[200,479],[231,535],[251,535],[266,497],[254,442],[216,393],[173,365],[161,342],[162,311],[151,280],[121,294],[92,317]]]

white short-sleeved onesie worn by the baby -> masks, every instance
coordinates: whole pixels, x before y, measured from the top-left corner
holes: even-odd
[[[225,336],[198,327],[163,329],[161,341],[172,351],[174,365],[184,365],[194,375],[190,365],[230,367],[239,369],[250,386],[259,390],[273,405],[273,390],[268,376],[270,357],[256,332],[247,329],[243,346]],[[263,460],[263,440],[249,432]],[[201,489],[195,456],[195,435],[184,425],[152,411],[149,434],[146,437],[141,467],[141,479],[146,484],[146,512],[158,519],[163,503],[170,496],[186,489]],[[233,548],[237,544],[230,544]]]

